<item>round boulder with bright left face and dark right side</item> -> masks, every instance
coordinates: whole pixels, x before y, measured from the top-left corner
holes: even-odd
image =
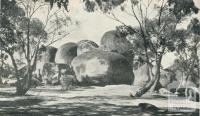
[[[76,56],[77,56],[77,44],[69,42],[58,48],[55,62],[60,64],[70,65],[71,61]]]

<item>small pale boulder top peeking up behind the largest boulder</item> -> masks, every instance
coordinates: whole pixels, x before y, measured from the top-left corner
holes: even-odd
[[[99,46],[91,40],[81,40],[78,43],[77,55],[94,50]]]

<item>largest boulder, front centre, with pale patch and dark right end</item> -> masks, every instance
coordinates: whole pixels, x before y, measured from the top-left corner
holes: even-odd
[[[74,58],[72,67],[82,85],[131,84],[134,81],[131,65],[118,53],[85,52]]]

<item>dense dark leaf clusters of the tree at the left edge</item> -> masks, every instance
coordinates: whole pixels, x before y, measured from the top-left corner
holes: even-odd
[[[29,18],[25,17],[22,8],[16,5],[14,0],[2,1],[1,27],[0,27],[0,45],[1,49],[13,53],[14,50],[24,49],[27,44],[27,36],[31,37],[31,46],[35,46],[40,36],[41,42],[47,39],[47,33],[44,30],[43,23],[38,19],[31,19],[28,26]],[[27,35],[29,30],[29,35]],[[22,50],[20,51],[22,52]]]

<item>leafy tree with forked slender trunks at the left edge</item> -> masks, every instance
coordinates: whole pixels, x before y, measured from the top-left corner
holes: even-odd
[[[17,9],[17,10],[16,10]],[[28,9],[28,5],[27,5]],[[16,14],[14,14],[16,13]],[[31,15],[26,12],[27,16]],[[46,32],[39,20],[26,17],[23,9],[13,1],[2,1],[1,12],[1,50],[5,51],[11,58],[17,78],[16,94],[24,95],[30,88],[32,72],[35,69],[39,44],[45,41]],[[37,25],[39,23],[39,25]],[[40,27],[39,27],[40,26]],[[41,32],[42,31],[42,32]],[[43,36],[37,39],[38,36]],[[26,60],[26,72],[20,74],[17,65],[16,53]],[[21,59],[22,60],[22,59]]]

